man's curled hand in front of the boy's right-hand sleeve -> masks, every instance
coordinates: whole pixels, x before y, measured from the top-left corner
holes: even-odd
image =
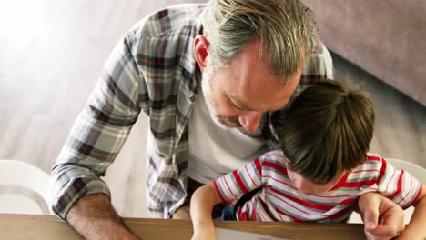
[[[358,207],[364,222],[364,232],[369,240],[392,239],[405,229],[404,211],[383,195],[361,195]]]

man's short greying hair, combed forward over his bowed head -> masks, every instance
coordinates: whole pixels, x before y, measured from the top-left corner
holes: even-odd
[[[259,61],[267,51],[270,72],[284,80],[303,67],[317,35],[311,10],[299,0],[210,0],[203,27],[214,65],[227,65],[258,40]]]

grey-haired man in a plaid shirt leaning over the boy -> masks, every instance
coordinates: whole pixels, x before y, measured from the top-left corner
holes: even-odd
[[[332,77],[330,55],[299,1],[212,0],[150,15],[109,57],[57,159],[53,210],[86,238],[135,239],[99,177],[142,110],[150,124],[148,210],[187,218],[195,188],[279,148],[285,105]],[[373,200],[376,212],[391,206],[380,215],[401,216],[380,196],[365,202]],[[377,222],[376,212],[364,213]]]

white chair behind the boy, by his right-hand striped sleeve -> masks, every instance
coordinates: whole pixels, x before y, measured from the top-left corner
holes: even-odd
[[[404,169],[405,171],[409,172],[412,176],[419,179],[423,185],[426,185],[426,169],[422,168],[420,165],[415,165],[407,161],[402,161],[400,159],[395,158],[385,158],[386,161],[393,165],[396,168]],[[405,209],[405,223],[410,223],[411,215],[414,211],[414,207],[409,207]],[[350,215],[350,219],[348,220],[348,223],[353,224],[362,224],[362,219],[360,217],[360,214],[358,213],[352,213]]]

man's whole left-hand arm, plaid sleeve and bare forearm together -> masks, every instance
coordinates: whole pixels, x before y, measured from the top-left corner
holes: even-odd
[[[136,239],[130,238],[119,220],[109,189],[100,178],[147,105],[138,100],[146,86],[132,55],[130,37],[125,36],[110,55],[52,170],[53,211],[88,239],[118,239],[114,233],[119,239]]]

